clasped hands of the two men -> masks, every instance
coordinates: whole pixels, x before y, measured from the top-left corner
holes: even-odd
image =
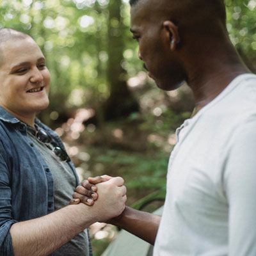
[[[83,180],[77,186],[70,204],[90,205],[97,221],[109,222],[122,214],[127,200],[124,179],[102,175]]]

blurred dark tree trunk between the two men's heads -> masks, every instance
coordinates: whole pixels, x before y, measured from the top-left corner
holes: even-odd
[[[106,120],[129,116],[139,110],[138,102],[127,88],[127,74],[121,66],[124,59],[122,40],[124,24],[120,15],[121,6],[121,0],[109,1],[107,82],[110,95],[104,104]]]

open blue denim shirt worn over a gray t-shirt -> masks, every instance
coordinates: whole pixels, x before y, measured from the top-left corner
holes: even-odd
[[[37,118],[54,142],[59,136]],[[74,171],[71,161],[68,162]],[[0,106],[0,255],[12,256],[10,227],[54,211],[54,184],[49,166],[27,136],[26,125]]]

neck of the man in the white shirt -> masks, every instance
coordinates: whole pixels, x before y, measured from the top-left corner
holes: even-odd
[[[188,70],[187,83],[195,97],[196,108],[201,109],[235,77],[250,73],[250,70],[237,54],[225,29],[211,41],[209,38],[202,38],[200,44],[194,41],[191,40],[191,44],[184,48],[182,60]]]

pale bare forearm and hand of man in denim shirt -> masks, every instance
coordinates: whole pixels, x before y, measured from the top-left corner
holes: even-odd
[[[96,221],[119,216],[126,202],[126,188],[120,177],[97,184],[99,198],[93,204],[66,207],[10,228],[15,256],[49,255]]]

